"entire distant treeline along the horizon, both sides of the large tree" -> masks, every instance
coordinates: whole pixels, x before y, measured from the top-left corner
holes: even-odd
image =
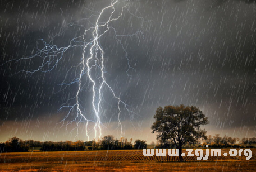
[[[256,138],[239,138],[227,137],[226,135],[221,137],[216,134],[214,136],[209,135],[207,139],[198,139],[193,143],[186,144],[189,147],[254,147],[252,144],[256,144]],[[161,142],[157,141],[151,143],[154,148],[172,148],[176,147],[172,141]],[[34,140],[22,140],[17,137],[10,138],[4,143],[0,143],[1,152],[27,152],[33,150],[34,147],[40,147],[40,151],[83,151],[83,150],[118,150],[118,149],[143,149],[147,148],[146,141],[135,140],[132,143],[132,138],[128,141],[127,138],[116,139],[112,135],[104,136],[102,139],[92,141],[34,141]]]

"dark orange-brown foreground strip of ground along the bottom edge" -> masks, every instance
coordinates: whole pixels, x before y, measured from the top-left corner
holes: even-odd
[[[218,161],[189,163],[156,162],[92,162],[92,163],[14,163],[0,165],[0,171],[252,171],[255,161]]]

